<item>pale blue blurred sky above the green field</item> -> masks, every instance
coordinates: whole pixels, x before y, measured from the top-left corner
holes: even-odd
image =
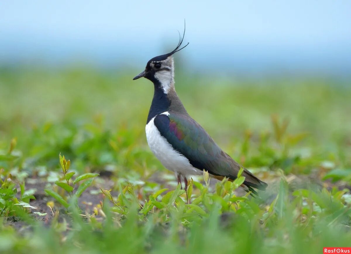
[[[347,72],[350,1],[1,1],[0,62],[144,67],[178,42],[198,70]]]

